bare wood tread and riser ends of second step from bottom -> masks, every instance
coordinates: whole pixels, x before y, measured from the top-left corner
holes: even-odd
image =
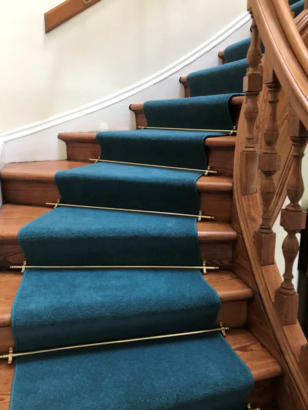
[[[14,344],[11,333],[11,307],[23,275],[18,271],[0,271],[0,352]],[[250,287],[232,272],[208,273],[204,279],[221,298],[217,321],[226,326],[241,327],[246,323],[246,300],[253,297]]]

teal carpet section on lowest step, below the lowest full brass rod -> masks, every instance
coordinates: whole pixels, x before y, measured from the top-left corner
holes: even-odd
[[[250,371],[221,334],[18,358],[10,410],[245,410]]]

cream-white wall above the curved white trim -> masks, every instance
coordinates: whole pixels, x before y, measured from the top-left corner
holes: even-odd
[[[101,0],[44,34],[44,13],[60,2],[1,3],[2,132],[128,87],[246,10],[246,0]]]

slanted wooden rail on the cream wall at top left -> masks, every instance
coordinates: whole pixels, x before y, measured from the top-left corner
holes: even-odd
[[[45,33],[59,27],[61,24],[82,13],[89,7],[98,3],[100,0],[91,0],[89,4],[81,0],[66,0],[44,14]]]

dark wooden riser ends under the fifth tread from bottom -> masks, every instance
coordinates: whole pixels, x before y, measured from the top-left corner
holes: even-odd
[[[64,137],[59,134],[59,139]],[[98,144],[90,142],[74,142],[66,141],[67,159],[73,161],[90,162],[89,158],[97,158],[101,155],[101,149]],[[205,143],[205,150],[207,152],[208,165],[212,169],[218,171],[219,175],[232,176],[233,175],[233,161],[234,161],[233,146],[207,146]]]

